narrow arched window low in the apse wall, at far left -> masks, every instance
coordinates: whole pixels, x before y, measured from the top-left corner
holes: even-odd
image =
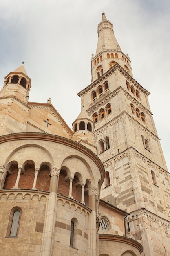
[[[21,215],[21,208],[20,207],[14,207],[11,210],[10,216],[9,216],[9,223],[7,227],[7,235],[6,237],[17,237],[18,234],[18,226],[20,222],[20,215]]]

